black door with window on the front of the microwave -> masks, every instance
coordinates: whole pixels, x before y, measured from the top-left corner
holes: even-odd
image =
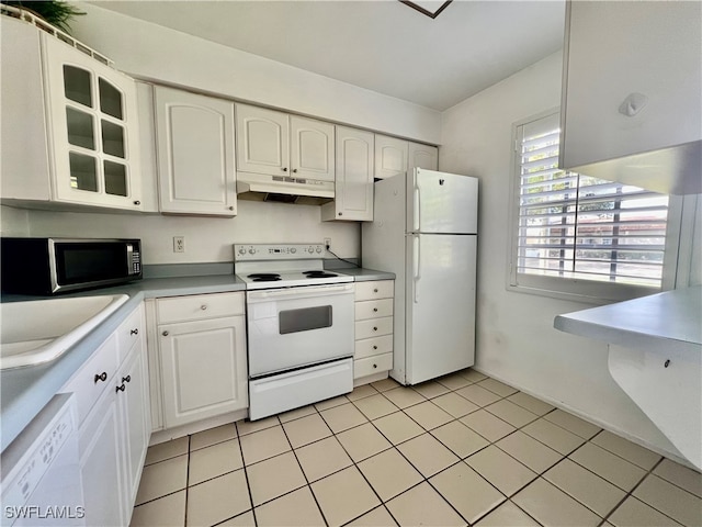
[[[129,273],[123,243],[57,243],[56,281],[58,285],[125,278]]]

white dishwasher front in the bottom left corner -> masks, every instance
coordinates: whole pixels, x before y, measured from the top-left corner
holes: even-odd
[[[72,394],[55,395],[0,456],[3,526],[84,526]]]

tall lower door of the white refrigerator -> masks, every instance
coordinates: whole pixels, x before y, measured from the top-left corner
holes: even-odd
[[[407,237],[406,384],[475,362],[477,236]]]

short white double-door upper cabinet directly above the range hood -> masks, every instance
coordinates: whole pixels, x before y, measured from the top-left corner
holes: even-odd
[[[238,170],[333,181],[332,124],[247,104],[236,115]]]

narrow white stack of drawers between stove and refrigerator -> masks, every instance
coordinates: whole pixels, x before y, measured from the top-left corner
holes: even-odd
[[[394,280],[355,283],[354,384],[387,377],[393,369]]]

